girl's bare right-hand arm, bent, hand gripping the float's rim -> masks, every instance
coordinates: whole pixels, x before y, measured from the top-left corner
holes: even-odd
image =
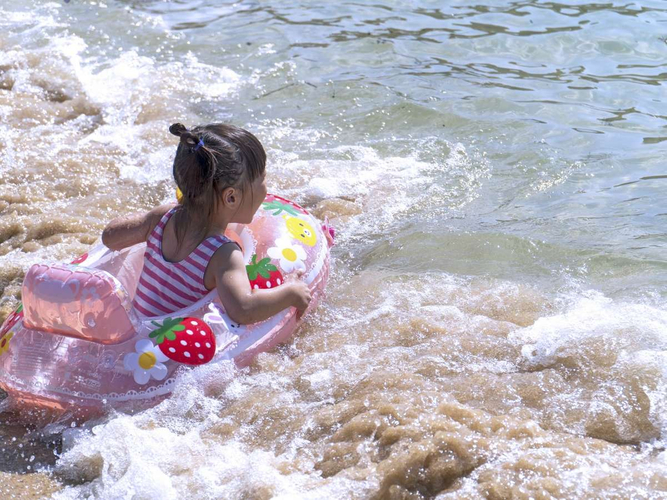
[[[299,279],[288,279],[281,286],[267,290],[251,289],[243,254],[234,244],[220,247],[209,268],[214,273],[225,311],[237,323],[256,323],[292,306],[303,312],[310,302],[310,290]]]

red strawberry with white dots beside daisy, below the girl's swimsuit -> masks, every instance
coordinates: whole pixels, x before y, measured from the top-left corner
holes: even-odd
[[[151,321],[157,330],[149,337],[169,359],[186,365],[203,365],[215,354],[215,335],[199,318],[167,318],[162,324]]]

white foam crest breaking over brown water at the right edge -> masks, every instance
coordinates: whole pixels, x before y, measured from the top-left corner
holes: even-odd
[[[572,430],[586,433],[608,421],[613,439],[661,446],[667,438],[667,311],[597,291],[567,300],[561,313],[512,332],[522,365],[570,373],[572,388],[556,399],[589,413]],[[651,425],[639,431],[638,420]]]

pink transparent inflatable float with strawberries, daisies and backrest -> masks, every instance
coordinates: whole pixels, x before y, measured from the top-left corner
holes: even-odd
[[[311,310],[329,273],[325,232],[332,234],[299,205],[268,195],[251,224],[231,224],[226,234],[240,245],[253,288],[280,286],[302,270]],[[215,290],[177,313],[144,318],[132,307],[144,249],[97,245],[70,264],[30,268],[22,305],[0,330],[0,387],[14,404],[75,416],[149,407],[170,394],[179,367],[247,365],[300,323],[290,308],[235,324]]]

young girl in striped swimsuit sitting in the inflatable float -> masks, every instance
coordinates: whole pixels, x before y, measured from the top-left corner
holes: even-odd
[[[311,297],[300,275],[276,288],[252,290],[241,250],[224,236],[230,222],[250,223],[266,197],[266,153],[259,140],[217,123],[191,131],[175,123],[169,132],[181,139],[173,169],[181,204],[120,217],[102,233],[112,250],[147,243],[136,310],[169,314],[216,288],[237,323],[262,321],[291,306],[303,312]]]

